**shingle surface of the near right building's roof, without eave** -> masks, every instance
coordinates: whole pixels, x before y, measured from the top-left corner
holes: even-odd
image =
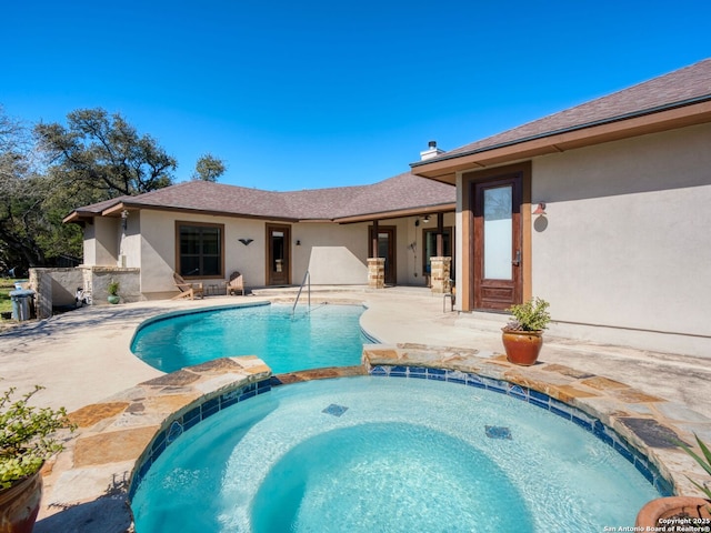
[[[444,152],[427,163],[711,99],[711,59]],[[413,167],[424,162],[412,163]]]

